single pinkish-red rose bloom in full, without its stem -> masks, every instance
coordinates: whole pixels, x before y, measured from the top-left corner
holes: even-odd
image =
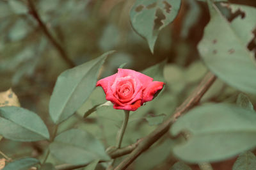
[[[114,109],[127,111],[136,111],[143,103],[152,100],[163,85],[164,82],[153,81],[143,73],[122,68],[118,68],[114,75],[100,79],[96,84],[103,88],[106,100],[114,104]]]

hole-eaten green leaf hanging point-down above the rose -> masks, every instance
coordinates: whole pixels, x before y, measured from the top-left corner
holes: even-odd
[[[135,31],[146,38],[151,52],[157,35],[172,22],[180,9],[180,0],[136,0],[130,12]]]

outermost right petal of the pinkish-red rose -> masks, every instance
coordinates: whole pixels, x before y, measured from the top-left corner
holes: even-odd
[[[153,81],[148,84],[147,88],[143,91],[142,103],[148,102],[154,98],[154,95],[160,89],[163,89],[164,82]]]

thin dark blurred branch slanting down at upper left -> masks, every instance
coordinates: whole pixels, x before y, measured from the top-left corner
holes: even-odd
[[[58,41],[51,35],[50,31],[45,26],[44,22],[42,21],[42,19],[38,15],[38,12],[36,11],[36,7],[35,7],[35,4],[33,3],[33,0],[28,0],[28,5],[29,5],[29,8],[30,8],[31,15],[35,18],[38,25],[40,26],[40,28],[44,32],[45,36],[47,36],[47,38],[52,43],[52,45],[54,45],[54,47],[58,50],[58,52],[60,53],[61,58],[63,58],[64,61],[68,64],[68,66],[70,66],[71,68],[76,66],[75,63],[71,59],[68,58],[67,52],[65,52],[63,47],[61,47],[60,43],[58,43]]]

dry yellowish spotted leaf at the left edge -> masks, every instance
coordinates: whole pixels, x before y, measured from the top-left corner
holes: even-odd
[[[20,107],[19,99],[17,95],[15,95],[15,93],[12,91],[12,88],[0,93],[0,107],[11,105]]]

